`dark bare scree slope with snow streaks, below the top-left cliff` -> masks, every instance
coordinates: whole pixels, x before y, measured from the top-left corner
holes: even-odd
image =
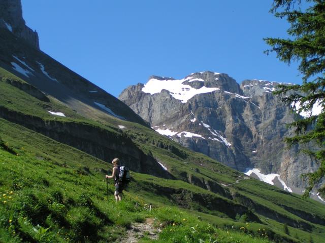
[[[109,115],[148,126],[123,102],[3,28],[0,28],[0,67],[87,117],[106,120]]]

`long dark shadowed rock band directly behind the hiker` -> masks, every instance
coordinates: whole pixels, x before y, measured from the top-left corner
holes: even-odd
[[[173,179],[151,154],[144,153],[124,134],[110,132],[91,124],[44,120],[0,106],[0,117],[70,145],[104,161],[119,157],[130,170]]]

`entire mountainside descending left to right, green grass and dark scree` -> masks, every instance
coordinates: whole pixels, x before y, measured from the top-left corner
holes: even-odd
[[[104,181],[114,157],[132,176],[119,204]],[[157,242],[325,237],[317,201],[160,135],[7,27],[0,28],[0,166],[0,242],[125,242],[135,232],[152,242],[139,225],[151,225]]]

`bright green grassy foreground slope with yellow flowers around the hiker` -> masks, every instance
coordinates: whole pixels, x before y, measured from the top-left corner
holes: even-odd
[[[4,146],[18,154],[0,149],[2,242],[113,241],[132,222],[149,217],[164,225],[161,242],[184,242],[185,235],[188,242],[210,237],[219,242],[267,242],[236,230],[227,233],[175,208],[149,212],[146,201],[134,193],[126,192],[127,200],[115,204],[112,185],[106,195],[104,161],[4,119],[0,124]]]

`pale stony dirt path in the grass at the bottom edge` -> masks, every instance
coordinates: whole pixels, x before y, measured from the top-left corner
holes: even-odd
[[[153,226],[153,219],[146,219],[144,223],[133,223],[131,228],[127,230],[125,238],[120,243],[136,243],[144,236],[150,239],[158,239],[160,229]]]

